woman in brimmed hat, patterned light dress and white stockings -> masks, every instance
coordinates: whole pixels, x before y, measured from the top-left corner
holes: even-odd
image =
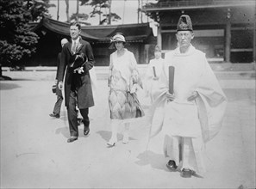
[[[134,54],[124,48],[125,43],[123,34],[116,34],[110,44],[116,52],[110,55],[109,61],[109,111],[112,131],[107,143],[109,147],[117,143],[119,125],[124,125],[122,143],[128,143],[130,122],[144,115],[136,95],[137,89],[142,88],[140,74]]]

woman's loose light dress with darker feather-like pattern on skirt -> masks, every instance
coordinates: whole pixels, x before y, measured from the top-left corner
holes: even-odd
[[[110,55],[109,62],[109,110],[110,119],[133,119],[144,115],[135,88],[142,88],[134,54],[124,49]]]

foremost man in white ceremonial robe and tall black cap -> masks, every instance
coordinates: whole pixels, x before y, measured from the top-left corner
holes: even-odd
[[[190,44],[194,34],[189,15],[180,16],[176,37],[178,47],[165,54],[159,87],[153,94],[150,137],[163,136],[167,168],[190,178],[205,173],[205,143],[221,129],[227,98],[204,53]],[[175,69],[173,94],[169,93],[170,65]],[[162,121],[153,121],[158,114]]]

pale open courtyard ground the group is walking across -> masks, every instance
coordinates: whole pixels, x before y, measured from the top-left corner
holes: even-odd
[[[120,129],[120,142],[106,148],[106,80],[98,80],[90,136],[80,127],[78,141],[66,143],[65,107],[60,119],[48,116],[56,100],[53,72],[35,72],[33,79],[9,74],[13,81],[0,82],[1,188],[255,188],[254,79],[220,80],[228,108],[222,131],[207,144],[208,173],[184,179],[165,168],[163,155],[146,151],[143,121],[131,126],[130,143],[122,144]]]

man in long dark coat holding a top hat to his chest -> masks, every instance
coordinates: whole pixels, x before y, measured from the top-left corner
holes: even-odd
[[[58,71],[58,87],[63,88],[63,77],[65,78],[65,104],[67,107],[68,124],[71,137],[68,143],[78,139],[78,113],[76,105],[83,117],[84,135],[90,132],[90,120],[88,117],[89,107],[94,106],[91,89],[91,77],[89,70],[93,67],[95,60],[89,42],[80,37],[81,26],[74,22],[70,26],[72,41],[62,48],[60,65]]]

